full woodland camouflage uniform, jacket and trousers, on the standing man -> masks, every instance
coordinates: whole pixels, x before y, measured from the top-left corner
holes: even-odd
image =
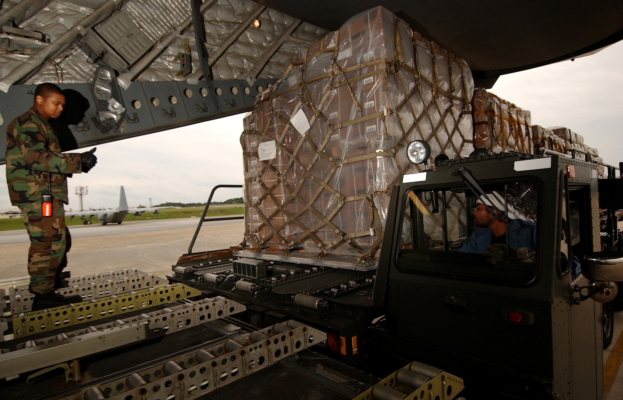
[[[47,293],[65,255],[67,176],[79,173],[78,153],[60,152],[52,126],[34,108],[15,118],[6,132],[6,181],[11,204],[21,209],[31,239],[30,291]],[[52,216],[42,216],[42,194],[52,189]]]

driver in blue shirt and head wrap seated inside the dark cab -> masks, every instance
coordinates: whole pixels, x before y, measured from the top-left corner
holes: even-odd
[[[508,249],[504,222],[493,217],[482,202],[478,202],[473,210],[473,221],[476,230],[467,238],[459,252],[484,254],[495,249]],[[508,245],[511,249],[525,247],[527,252],[534,252],[536,250],[536,224],[509,218]]]

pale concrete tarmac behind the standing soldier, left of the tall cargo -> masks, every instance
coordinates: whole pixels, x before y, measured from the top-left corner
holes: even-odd
[[[67,254],[72,276],[136,268],[161,277],[188,252],[199,219],[123,222],[117,225],[72,226],[72,248]],[[193,252],[227,249],[244,237],[242,219],[204,222]],[[0,232],[0,278],[26,277],[30,245],[26,230]]]

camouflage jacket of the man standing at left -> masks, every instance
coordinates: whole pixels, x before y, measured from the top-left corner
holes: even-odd
[[[52,196],[67,204],[67,175],[79,173],[78,153],[61,153],[52,126],[34,108],[15,118],[6,131],[6,183],[14,206],[41,200],[48,179]]]

